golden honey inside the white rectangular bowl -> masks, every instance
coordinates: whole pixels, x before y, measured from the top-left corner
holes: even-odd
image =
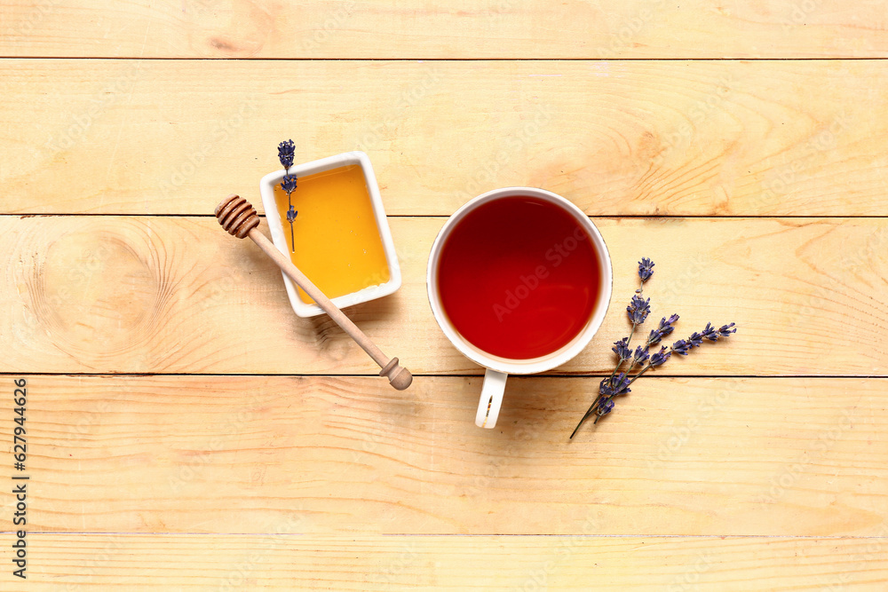
[[[384,284],[391,278],[373,203],[360,165],[299,177],[291,200],[298,214],[287,222],[287,193],[274,185],[289,257],[329,298]],[[302,288],[299,299],[313,304]]]

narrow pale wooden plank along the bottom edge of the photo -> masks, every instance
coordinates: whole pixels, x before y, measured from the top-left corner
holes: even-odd
[[[29,590],[589,590],[593,581],[596,590],[770,592],[888,583],[884,538],[35,534],[31,541]]]

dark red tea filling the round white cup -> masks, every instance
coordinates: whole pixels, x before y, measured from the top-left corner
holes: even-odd
[[[441,307],[467,342],[501,358],[534,359],[583,331],[599,300],[601,269],[570,212],[508,195],[454,225],[437,281]]]

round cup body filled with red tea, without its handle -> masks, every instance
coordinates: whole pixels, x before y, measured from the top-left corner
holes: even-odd
[[[500,373],[533,374],[573,358],[607,312],[607,248],[582,210],[555,193],[485,193],[448,220],[432,247],[432,310],[456,348]]]

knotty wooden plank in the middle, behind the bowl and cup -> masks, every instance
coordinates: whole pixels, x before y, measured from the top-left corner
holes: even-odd
[[[646,288],[654,320],[681,315],[675,339],[708,321],[740,327],[662,373],[888,374],[885,218],[595,222],[614,259],[611,309],[559,374],[610,371],[646,256],[657,265]],[[426,264],[442,219],[390,223],[403,286],[353,307],[353,320],[415,373],[480,372],[428,306]],[[378,371],[326,317],[297,318],[280,270],[212,217],[2,217],[0,253],[3,372]]]

